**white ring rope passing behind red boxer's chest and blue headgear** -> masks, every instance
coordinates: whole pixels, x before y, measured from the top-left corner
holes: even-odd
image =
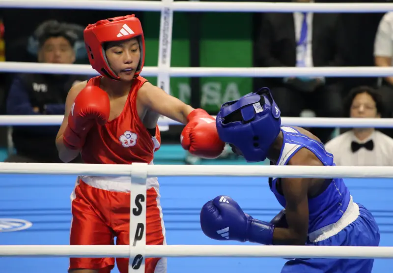
[[[60,125],[63,121],[61,115],[50,116],[0,116],[0,126],[37,126],[37,125]],[[159,126],[181,125],[180,122],[168,118],[160,118]],[[363,119],[363,118],[292,118],[282,117],[282,126],[301,126],[301,127],[342,127],[342,128],[391,128],[393,119]]]

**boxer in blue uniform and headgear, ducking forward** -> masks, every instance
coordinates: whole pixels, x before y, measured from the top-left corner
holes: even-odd
[[[216,124],[220,138],[248,162],[268,158],[274,165],[335,165],[316,136],[281,126],[280,109],[267,88],[223,104]],[[215,240],[265,245],[378,246],[374,217],[353,201],[342,179],[270,178],[269,186],[284,208],[273,220],[254,219],[230,197],[218,196],[200,212],[203,233]],[[370,273],[373,262],[292,259],[281,273]]]

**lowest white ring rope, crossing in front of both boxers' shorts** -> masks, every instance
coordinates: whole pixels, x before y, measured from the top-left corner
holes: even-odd
[[[129,257],[128,245],[0,245],[1,256]],[[146,257],[393,258],[390,246],[146,245]]]

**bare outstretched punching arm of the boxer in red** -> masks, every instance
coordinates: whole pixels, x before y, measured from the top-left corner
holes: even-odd
[[[187,116],[194,111],[190,105],[149,82],[140,88],[138,98],[144,106],[152,111],[183,124],[187,124]]]

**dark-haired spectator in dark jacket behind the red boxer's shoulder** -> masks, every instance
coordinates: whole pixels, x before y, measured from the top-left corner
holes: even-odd
[[[46,21],[33,36],[38,42],[38,62],[71,64],[76,60],[77,34],[68,25]],[[7,114],[64,115],[68,91],[86,79],[81,75],[19,74],[9,90]],[[16,154],[10,154],[5,162],[61,162],[55,145],[58,129],[59,126],[15,126],[12,138]]]

